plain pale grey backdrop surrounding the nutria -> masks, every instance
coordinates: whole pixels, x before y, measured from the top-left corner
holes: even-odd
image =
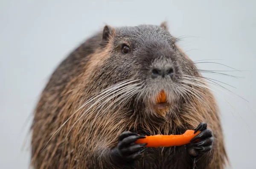
[[[157,24],[189,35],[180,46],[192,60],[213,60],[250,72],[224,72],[244,78],[205,74],[236,87],[236,95],[214,89],[222,113],[233,169],[255,169],[255,0],[0,1],[0,168],[29,165],[31,113],[49,75],[76,46],[105,23]],[[200,69],[230,70],[210,63]],[[227,102],[228,100],[229,102]],[[233,106],[231,106],[233,105]],[[28,119],[28,121],[26,121]],[[26,139],[28,138],[28,140]],[[25,146],[23,146],[24,141]],[[23,149],[22,149],[23,148]]]

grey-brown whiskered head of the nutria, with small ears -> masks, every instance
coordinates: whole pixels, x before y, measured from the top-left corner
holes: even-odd
[[[189,84],[183,83],[184,76],[198,76],[191,71],[195,65],[176,42],[177,38],[169,33],[165,23],[161,26],[105,26],[99,55],[95,55],[100,56],[101,64],[94,68],[92,77],[98,82],[97,88],[120,83],[115,88],[120,89],[119,94],[114,98],[125,102],[119,106],[129,102],[129,108],[135,112],[163,116],[172,112],[187,97]],[[97,59],[92,57],[91,60],[96,62]]]

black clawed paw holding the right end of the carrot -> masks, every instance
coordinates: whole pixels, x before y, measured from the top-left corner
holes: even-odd
[[[195,133],[201,131],[197,136],[192,138],[187,145],[189,155],[197,156],[201,153],[209,152],[212,150],[213,135],[210,129],[207,129],[207,123],[200,123],[195,130]]]

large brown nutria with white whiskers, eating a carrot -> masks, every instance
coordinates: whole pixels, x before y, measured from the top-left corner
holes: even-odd
[[[106,25],[74,50],[52,74],[36,107],[32,166],[224,169],[217,103],[177,40],[166,22]],[[201,132],[185,146],[134,144],[145,135],[187,129]]]

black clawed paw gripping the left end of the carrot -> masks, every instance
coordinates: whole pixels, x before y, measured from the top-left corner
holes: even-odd
[[[145,151],[144,146],[147,144],[134,143],[140,138],[145,138],[145,136],[133,132],[123,132],[119,135],[117,150],[123,160],[139,160],[143,157],[143,152]]]

